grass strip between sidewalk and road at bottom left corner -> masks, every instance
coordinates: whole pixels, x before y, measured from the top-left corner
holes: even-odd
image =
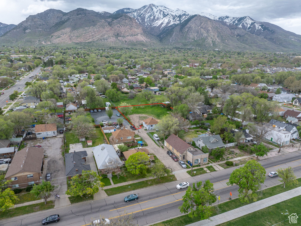
[[[38,212],[45,209],[52,209],[52,208],[54,208],[53,201],[47,201],[46,205],[44,204],[44,202],[41,202],[33,205],[21,206],[13,209],[8,209],[5,211],[0,211],[0,220],[16,217],[20,215],[25,215],[33,212]]]

